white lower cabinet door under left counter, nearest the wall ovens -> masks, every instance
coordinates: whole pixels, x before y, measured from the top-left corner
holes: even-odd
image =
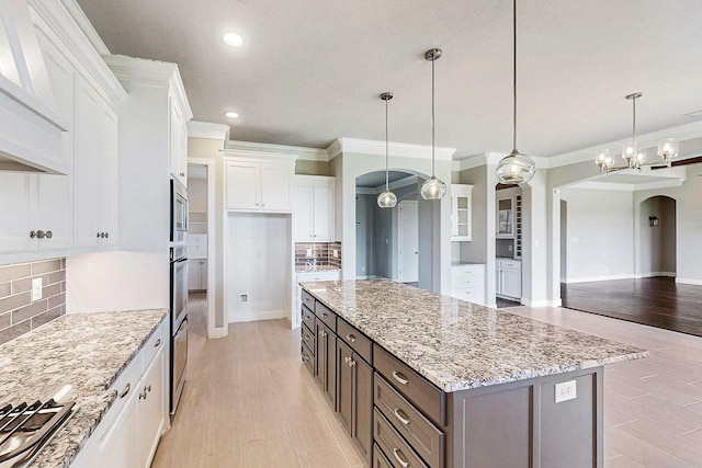
[[[168,414],[166,391],[166,353],[165,347],[156,355],[141,379],[141,396],[139,399],[139,440],[140,454],[138,467],[151,466],[156,447],[163,432]]]

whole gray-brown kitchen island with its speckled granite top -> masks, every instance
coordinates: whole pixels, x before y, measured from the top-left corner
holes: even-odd
[[[603,366],[648,355],[388,279],[302,287],[302,359],[378,468],[602,467]]]

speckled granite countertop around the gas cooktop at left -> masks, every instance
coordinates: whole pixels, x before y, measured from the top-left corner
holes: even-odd
[[[65,385],[79,410],[30,465],[68,467],[116,398],[109,387],[132,362],[166,309],[72,313],[0,345],[0,403],[46,400]]]

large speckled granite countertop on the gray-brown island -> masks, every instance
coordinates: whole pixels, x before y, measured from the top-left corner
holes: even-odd
[[[303,288],[444,391],[648,356],[648,352],[389,279]]]

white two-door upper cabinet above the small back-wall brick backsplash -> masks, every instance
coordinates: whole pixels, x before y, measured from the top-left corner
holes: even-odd
[[[293,237],[295,242],[335,240],[336,179],[321,175],[295,175]]]

